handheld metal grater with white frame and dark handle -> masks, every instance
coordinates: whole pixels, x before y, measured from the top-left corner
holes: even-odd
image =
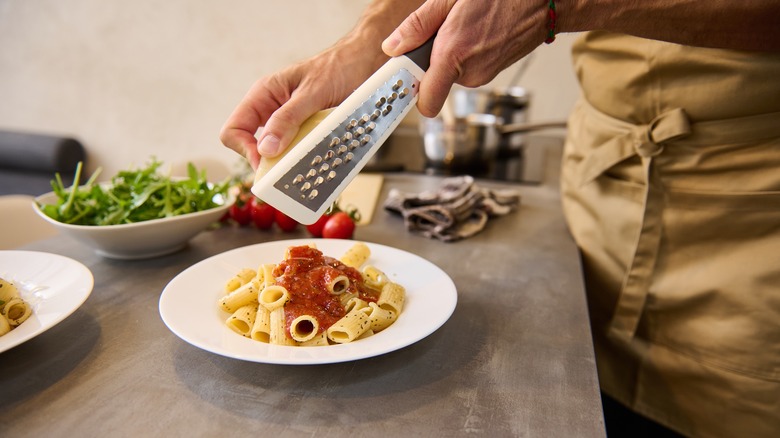
[[[391,58],[257,179],[252,193],[313,224],[417,102],[433,38]]]

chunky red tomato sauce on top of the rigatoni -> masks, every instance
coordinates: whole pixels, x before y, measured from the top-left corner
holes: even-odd
[[[290,247],[288,258],[276,266],[273,275],[276,283],[289,293],[290,299],[284,305],[288,337],[291,337],[290,325],[301,315],[316,318],[320,323],[320,333],[346,314],[341,304],[341,294],[331,294],[327,286],[339,275],[349,278],[349,285],[343,293],[355,294],[368,302],[376,302],[379,298],[379,291],[368,287],[357,269],[309,246]]]

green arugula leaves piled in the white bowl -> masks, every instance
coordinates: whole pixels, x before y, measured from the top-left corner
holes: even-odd
[[[152,159],[138,170],[125,170],[110,184],[95,182],[100,169],[79,185],[82,163],[76,167],[73,185],[66,188],[59,173],[51,185],[57,204],[40,205],[52,219],[76,225],[117,225],[143,222],[208,210],[227,202],[231,181],[210,184],[206,172],[187,164],[187,178],[161,175],[162,163]]]

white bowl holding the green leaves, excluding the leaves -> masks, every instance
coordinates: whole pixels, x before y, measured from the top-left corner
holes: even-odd
[[[71,225],[47,216],[39,204],[56,204],[57,195],[49,192],[33,200],[33,209],[61,233],[92,247],[101,256],[112,259],[145,259],[183,249],[187,242],[217,222],[233,204],[228,196],[221,205],[195,213],[120,225]]]

